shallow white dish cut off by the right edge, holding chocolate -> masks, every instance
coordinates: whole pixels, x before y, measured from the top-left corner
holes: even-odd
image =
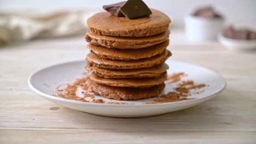
[[[224,45],[230,50],[237,51],[250,51],[256,50],[256,40],[242,40],[242,39],[230,39],[223,36],[222,33],[218,34],[219,43]]]

